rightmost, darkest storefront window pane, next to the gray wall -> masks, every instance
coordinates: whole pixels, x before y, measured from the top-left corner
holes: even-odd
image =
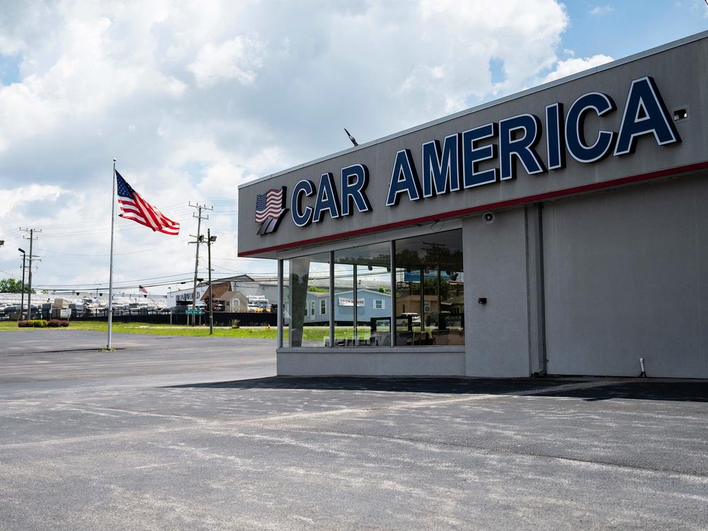
[[[395,247],[396,345],[464,345],[462,229]]]

